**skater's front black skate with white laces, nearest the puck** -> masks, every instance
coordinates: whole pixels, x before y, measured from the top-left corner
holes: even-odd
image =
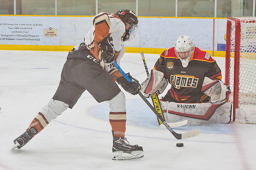
[[[113,160],[139,159],[144,156],[143,149],[138,145],[130,145],[126,138],[113,135]]]

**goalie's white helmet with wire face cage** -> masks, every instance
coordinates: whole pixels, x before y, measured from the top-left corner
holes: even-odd
[[[189,60],[195,51],[195,43],[186,35],[180,36],[175,43],[175,54],[182,62],[183,67],[187,67]]]

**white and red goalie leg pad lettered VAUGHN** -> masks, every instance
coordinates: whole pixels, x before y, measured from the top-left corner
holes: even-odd
[[[186,126],[227,124],[231,121],[231,103],[175,103],[161,101],[166,122],[188,120]]]

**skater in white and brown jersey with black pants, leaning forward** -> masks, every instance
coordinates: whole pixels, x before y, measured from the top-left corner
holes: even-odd
[[[111,109],[109,121],[113,135],[113,159],[137,159],[143,157],[143,149],[130,145],[125,138],[126,106],[124,90],[138,94],[140,84],[129,83],[111,63],[123,57],[123,41],[134,38],[138,19],[131,10],[119,10],[116,14],[101,12],[92,19],[93,27],[67,56],[63,66],[59,87],[49,103],[41,109],[25,133],[14,140],[14,148],[21,148],[38,134],[51,120],[61,115],[68,107],[73,108],[81,94],[87,90],[98,101],[106,101]],[[115,82],[116,81],[116,82]],[[130,154],[123,156],[123,152]]]

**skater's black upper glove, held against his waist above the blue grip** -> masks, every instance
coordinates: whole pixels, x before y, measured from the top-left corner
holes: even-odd
[[[115,49],[113,45],[113,39],[111,36],[104,38],[98,43],[99,49],[101,50],[101,58],[106,63],[111,63],[115,57]]]

